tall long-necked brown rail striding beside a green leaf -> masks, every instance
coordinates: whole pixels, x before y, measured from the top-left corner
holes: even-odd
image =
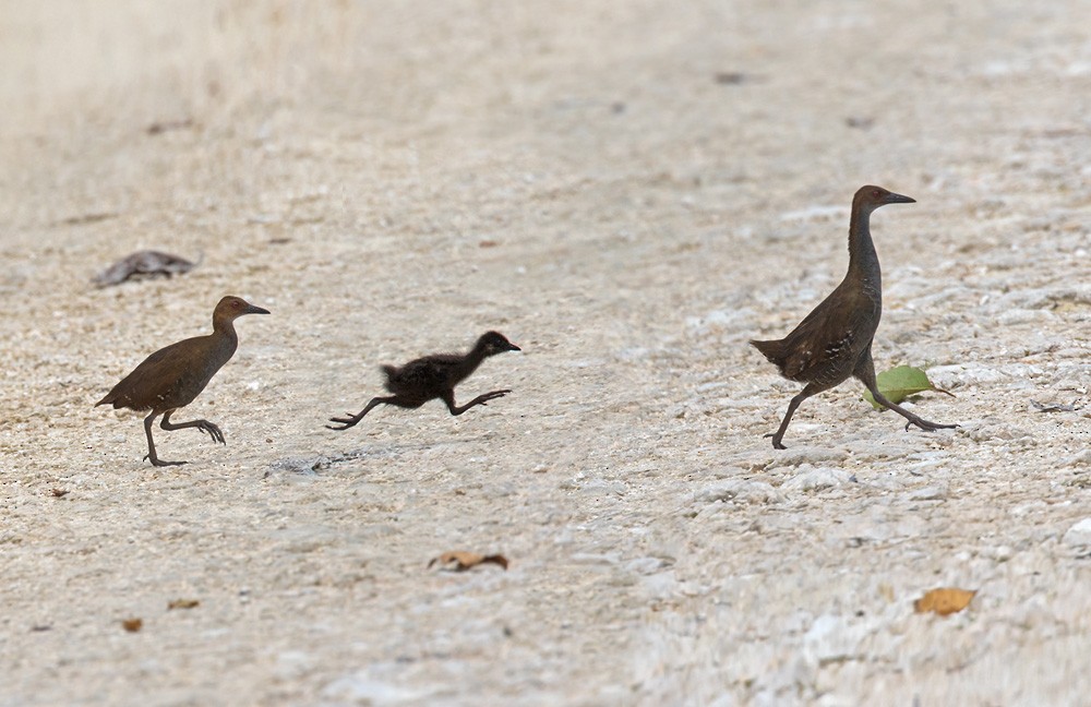
[[[800,322],[791,334],[776,341],[751,344],[780,369],[790,381],[806,383],[792,398],[780,429],[772,436],[772,446],[783,450],[781,440],[792,414],[803,400],[828,391],[854,375],[872,393],[879,405],[904,417],[922,430],[954,428],[955,424],[930,422],[888,400],[875,385],[872,362],[872,339],[883,314],[883,278],[879,259],[868,228],[872,212],[886,204],[912,204],[916,200],[895,194],[882,187],[861,187],[852,199],[849,221],[849,272],[829,297]]]

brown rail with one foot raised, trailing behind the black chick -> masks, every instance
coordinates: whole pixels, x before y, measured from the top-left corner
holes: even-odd
[[[155,453],[152,441],[152,423],[163,416],[159,427],[164,430],[197,428],[207,432],[214,442],[227,444],[224,433],[208,420],[172,423],[175,410],[185,407],[208,385],[208,381],[235,355],[239,347],[239,335],[235,333],[235,320],[243,314],[268,314],[269,311],[254,307],[238,297],[225,297],[212,313],[212,334],[195,336],[167,348],[161,348],[147,357],[132,373],[113,386],[99,405],[112,404],[115,408],[151,410],[144,418],[147,434],[147,456],[154,466],[173,466],[185,462],[164,462]]]

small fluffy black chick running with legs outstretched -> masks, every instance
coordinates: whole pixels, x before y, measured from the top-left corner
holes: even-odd
[[[521,351],[499,332],[485,332],[477,340],[469,354],[434,354],[409,361],[401,368],[382,367],[386,374],[386,390],[393,393],[386,397],[372,398],[359,415],[346,412],[343,418],[329,418],[339,427],[327,424],[331,430],[347,430],[356,426],[363,416],[379,405],[394,405],[416,409],[429,400],[439,398],[447,404],[452,415],[461,415],[475,405],[485,405],[489,400],[503,397],[511,391],[492,391],[479,395],[461,407],[455,405],[455,386],[465,381],[490,356],[504,351]]]

